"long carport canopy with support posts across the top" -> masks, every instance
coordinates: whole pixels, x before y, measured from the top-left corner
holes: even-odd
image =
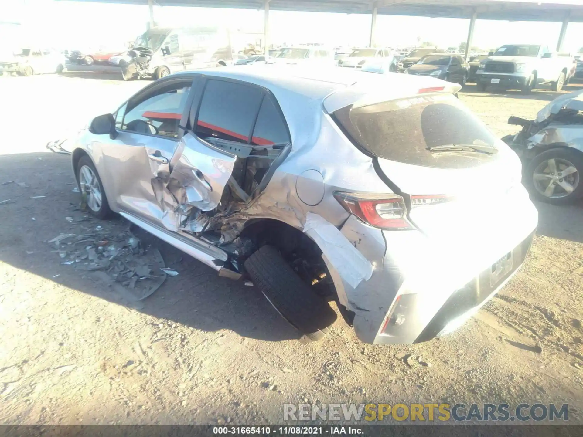
[[[198,6],[203,8],[242,8],[265,10],[266,54],[269,33],[269,10],[308,12],[370,13],[370,45],[374,45],[377,15],[409,15],[470,20],[466,58],[472,43],[476,19],[509,21],[561,22],[557,51],[563,46],[569,22],[583,22],[581,0],[84,0],[109,3],[149,5],[150,24],[154,23],[153,6]]]

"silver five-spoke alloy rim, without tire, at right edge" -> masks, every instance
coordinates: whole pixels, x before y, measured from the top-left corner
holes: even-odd
[[[532,175],[536,191],[547,198],[564,198],[579,185],[579,171],[570,161],[550,158],[542,161]]]

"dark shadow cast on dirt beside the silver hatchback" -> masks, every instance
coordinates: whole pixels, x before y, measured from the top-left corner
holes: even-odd
[[[298,339],[300,334],[272,308],[257,288],[217,276],[217,272],[146,232],[136,232],[142,245],[159,248],[167,267],[178,276],[168,277],[150,297],[124,301],[113,288],[100,285],[87,272],[61,265],[47,241],[62,233],[91,232],[97,225],[121,232],[128,227],[121,217],[69,224],[65,217],[79,216],[79,193],[70,157],[56,153],[0,156],[0,261],[115,304],[125,305],[157,319],[173,320],[206,332],[232,330],[243,337],[266,341]],[[14,182],[10,182],[14,181]],[[8,182],[8,183],[5,183]],[[26,186],[17,184],[24,183]],[[33,196],[45,196],[38,198]],[[33,219],[34,218],[34,219]],[[56,276],[56,277],[55,277]]]

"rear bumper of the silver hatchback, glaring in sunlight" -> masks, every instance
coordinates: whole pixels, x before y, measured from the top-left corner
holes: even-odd
[[[338,272],[331,270],[331,276],[340,303],[354,312],[359,340],[419,343],[461,326],[528,254],[538,214],[525,191],[517,207],[517,220],[497,232],[500,238],[479,235],[477,227],[468,238],[436,241],[419,231],[380,231],[349,217],[341,232],[373,264],[373,275],[355,289],[339,281]]]

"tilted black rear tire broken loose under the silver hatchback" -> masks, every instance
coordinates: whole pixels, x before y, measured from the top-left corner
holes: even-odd
[[[307,338],[318,341],[336,312],[300,279],[274,246],[262,246],[245,260],[245,270],[273,307]]]

